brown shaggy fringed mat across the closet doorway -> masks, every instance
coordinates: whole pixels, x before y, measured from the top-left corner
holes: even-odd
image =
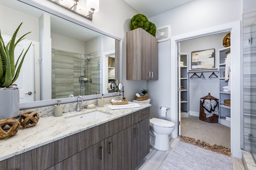
[[[213,152],[217,152],[226,156],[231,156],[230,148],[227,148],[221,145],[217,145],[217,144],[210,145],[209,143],[206,143],[204,141],[196,140],[194,138],[190,138],[186,136],[180,136],[180,141],[193,144],[195,146],[198,146],[207,150],[211,150]]]

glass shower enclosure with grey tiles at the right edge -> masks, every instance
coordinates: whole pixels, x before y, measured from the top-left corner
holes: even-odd
[[[256,11],[243,15],[243,96],[242,148],[256,153]]]

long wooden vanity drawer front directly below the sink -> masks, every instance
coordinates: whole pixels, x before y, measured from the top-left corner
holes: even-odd
[[[113,121],[67,136],[55,142],[55,164],[113,135]]]

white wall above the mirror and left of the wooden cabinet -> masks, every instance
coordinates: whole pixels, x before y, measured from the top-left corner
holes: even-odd
[[[31,2],[30,0],[21,0],[23,2]],[[125,97],[128,100],[135,99],[135,93],[142,88],[147,88],[146,81],[126,80],[126,39],[125,33],[130,31],[130,20],[138,12],[129,6],[124,0],[99,0],[99,12],[93,14],[93,20],[87,20],[84,17],[68,11],[67,9],[58,6],[49,0],[33,0],[38,4],[58,11],[68,17],[72,17],[102,30],[113,36],[123,39],[122,57],[123,57],[123,85],[125,87]]]

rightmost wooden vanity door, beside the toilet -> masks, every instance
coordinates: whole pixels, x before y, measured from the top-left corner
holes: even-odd
[[[149,118],[131,127],[131,168],[134,169],[149,153]]]

